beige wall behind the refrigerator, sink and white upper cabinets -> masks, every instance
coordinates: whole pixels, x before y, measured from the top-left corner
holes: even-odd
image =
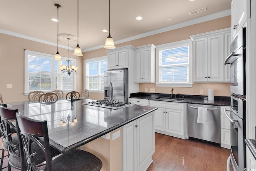
[[[161,45],[165,43],[170,43],[174,41],[180,41],[185,39],[190,39],[190,35],[196,35],[200,33],[205,33],[209,31],[214,31],[218,29],[224,29],[231,27],[231,16],[219,18],[216,20],[211,20],[208,22],[203,22],[200,24],[194,24],[192,26],[187,26],[184,28],[174,29],[172,31],[166,31],[164,33],[159,33],[156,35],[151,35],[148,37],[143,37],[140,39],[136,39],[133,41],[128,41],[125,43],[116,44],[116,47],[121,47],[124,45],[132,45],[134,47],[154,44]],[[114,38],[114,34],[112,35]],[[83,59],[90,59],[94,57],[105,56],[106,49],[96,49],[93,51],[88,51],[83,53]],[[84,64],[83,64],[84,65]],[[84,87],[84,83],[82,85]],[[156,93],[170,93],[172,87],[156,87],[155,83],[140,83],[139,91],[145,92],[145,88],[155,88]],[[174,93],[178,94],[193,94],[199,95],[199,90],[204,90],[203,95],[208,95],[208,88],[214,88],[215,96],[229,96],[230,89],[228,83],[194,83],[192,88],[182,88],[182,87],[174,87]],[[91,93],[90,98],[93,99],[103,99],[103,93]]]

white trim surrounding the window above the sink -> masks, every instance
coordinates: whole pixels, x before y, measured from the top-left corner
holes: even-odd
[[[189,82],[188,83],[159,83],[159,51],[165,49],[166,47],[181,47],[189,45],[188,54],[189,54]],[[193,86],[193,69],[192,69],[192,40],[186,39],[181,41],[176,41],[172,43],[166,43],[156,46],[156,86],[162,87],[192,87]]]

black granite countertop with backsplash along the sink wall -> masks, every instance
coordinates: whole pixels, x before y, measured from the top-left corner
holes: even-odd
[[[136,92],[136,93],[131,93],[130,98],[142,98],[142,99],[148,99],[148,100],[170,102],[170,100],[160,100],[156,98],[176,97],[176,98],[182,98],[183,100],[171,101],[171,102],[206,104],[206,105],[215,105],[215,106],[229,106],[229,97],[226,97],[226,96],[215,96],[214,100],[208,100],[208,96],[186,95],[186,94],[173,94],[172,96],[171,95],[172,94]]]

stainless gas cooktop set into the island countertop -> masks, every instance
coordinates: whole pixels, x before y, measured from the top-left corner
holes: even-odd
[[[92,102],[83,103],[83,104],[90,105],[90,106],[109,108],[109,109],[118,109],[118,108],[124,108],[124,107],[134,105],[130,102],[117,102],[114,100],[98,100],[98,101],[92,101]]]

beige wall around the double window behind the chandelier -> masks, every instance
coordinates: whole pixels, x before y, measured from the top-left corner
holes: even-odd
[[[57,51],[56,46],[0,33],[0,93],[4,103],[28,101],[28,96],[24,95],[24,49],[48,54]],[[59,53],[68,57],[68,49],[59,47]],[[77,58],[76,90],[82,92],[82,57],[70,53],[70,58]],[[6,88],[6,84],[12,84],[12,88]]]

